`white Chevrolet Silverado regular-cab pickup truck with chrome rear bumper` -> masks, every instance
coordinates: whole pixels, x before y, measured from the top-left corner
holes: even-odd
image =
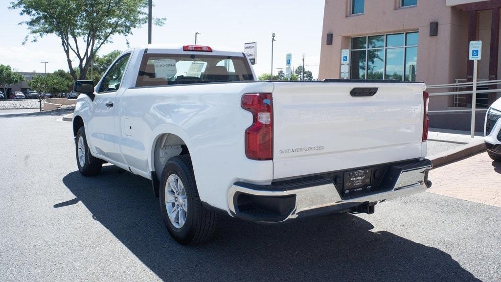
[[[340,212],[430,187],[423,83],[256,81],[241,52],[148,45],[99,83],[77,81],[79,171],[111,163],[152,181],[182,244],[216,215],[256,222]]]

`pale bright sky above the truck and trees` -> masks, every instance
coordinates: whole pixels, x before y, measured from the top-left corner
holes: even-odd
[[[50,35],[36,43],[22,45],[28,31],[18,25],[26,20],[19,10],[10,10],[11,0],[0,0],[2,17],[2,44],[0,64],[11,65],[18,71],[44,71],[41,61],[49,61],[47,71],[67,69],[66,56],[59,38]],[[302,64],[305,53],[306,69],[318,77],[324,1],[160,1],[154,0],[153,17],[167,18],[163,27],[153,27],[152,43],[193,44],[195,32],[198,44],[226,46],[243,50],[246,42],[257,42],[256,73],[270,72],[271,36],[276,33],[274,47],[274,73],[285,67],[286,54],[293,54],[293,66]],[[128,37],[130,45],[147,43],[147,25],[134,30]],[[101,53],[125,50],[125,38],[114,37],[113,43]]]

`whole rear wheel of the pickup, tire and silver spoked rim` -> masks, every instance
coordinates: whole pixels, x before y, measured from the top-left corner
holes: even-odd
[[[159,198],[165,226],[178,243],[197,244],[212,236],[216,214],[201,204],[189,155],[176,156],[167,162]]]

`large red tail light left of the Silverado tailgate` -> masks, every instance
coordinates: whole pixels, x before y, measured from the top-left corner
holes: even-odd
[[[272,93],[244,94],[241,106],[253,114],[253,124],[245,129],[245,156],[251,160],[272,160]]]

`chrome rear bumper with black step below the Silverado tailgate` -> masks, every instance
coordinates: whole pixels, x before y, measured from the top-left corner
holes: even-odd
[[[234,217],[257,222],[356,211],[426,190],[431,167],[427,159],[390,166],[379,187],[352,196],[341,196],[335,181],[322,176],[276,185],[237,182],[228,192],[228,206]]]

